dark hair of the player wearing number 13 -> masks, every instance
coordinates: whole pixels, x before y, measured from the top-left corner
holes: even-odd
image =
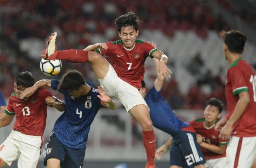
[[[27,88],[34,85],[35,78],[31,72],[23,71],[18,73],[14,79],[14,83],[16,83],[17,86],[23,86]]]

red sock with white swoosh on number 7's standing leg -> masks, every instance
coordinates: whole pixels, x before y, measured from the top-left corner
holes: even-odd
[[[156,136],[154,130],[143,131],[142,139],[147,153],[147,164],[153,166],[156,154]]]

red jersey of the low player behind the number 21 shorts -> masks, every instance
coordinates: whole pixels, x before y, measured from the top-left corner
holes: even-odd
[[[200,117],[190,121],[189,123],[196,130],[196,133],[200,134],[203,137],[204,142],[216,146],[227,145],[228,140],[220,140],[218,138],[220,132],[214,129],[214,126],[218,121],[216,121],[216,123],[209,128],[204,125],[204,121],[205,118]],[[201,149],[205,159],[216,159],[226,157],[226,152],[224,152],[223,154],[217,154],[203,147],[201,147]]]

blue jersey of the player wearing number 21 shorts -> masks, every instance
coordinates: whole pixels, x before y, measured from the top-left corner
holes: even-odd
[[[156,91],[155,86],[148,91],[145,101],[149,107],[150,119],[156,128],[174,136],[183,127],[189,126],[175,116],[173,109],[161,96],[161,91]]]

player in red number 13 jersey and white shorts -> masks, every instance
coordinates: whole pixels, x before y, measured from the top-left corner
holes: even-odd
[[[16,121],[10,135],[0,145],[0,168],[11,166],[17,158],[19,168],[35,168],[43,145],[47,104],[59,111],[66,108],[63,102],[53,98],[45,89],[39,89],[32,96],[20,99],[20,94],[33,85],[34,77],[31,72],[20,72],[15,77],[15,92],[9,98],[5,116],[0,118],[0,127],[9,125],[14,116]]]

